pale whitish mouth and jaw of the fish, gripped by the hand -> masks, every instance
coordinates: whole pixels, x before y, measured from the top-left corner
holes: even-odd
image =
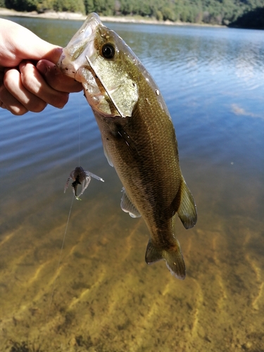
[[[84,21],[80,30],[78,30],[68,45],[63,49],[57,66],[65,75],[75,78],[77,71],[87,66],[87,56],[92,58],[96,55],[94,49],[94,37],[96,28],[103,25],[97,13],[90,13]]]

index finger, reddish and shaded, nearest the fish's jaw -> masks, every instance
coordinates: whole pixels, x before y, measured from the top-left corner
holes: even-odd
[[[51,61],[40,60],[37,63],[37,69],[45,77],[46,82],[58,91],[68,93],[82,91],[82,84],[80,82],[61,73],[61,70]]]

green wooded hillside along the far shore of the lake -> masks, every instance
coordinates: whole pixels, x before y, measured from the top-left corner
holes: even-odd
[[[254,22],[261,27],[264,11],[263,0],[0,0],[1,4],[17,11],[95,11],[99,15],[141,15],[187,23],[246,23],[248,27]]]

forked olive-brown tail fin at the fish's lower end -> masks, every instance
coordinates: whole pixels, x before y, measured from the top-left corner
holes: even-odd
[[[170,250],[160,249],[154,246],[151,239],[149,239],[149,243],[146,246],[146,263],[156,263],[161,259],[165,260],[167,268],[173,276],[177,277],[177,279],[185,279],[186,268],[180,243],[177,239],[175,239],[175,246],[173,246]]]

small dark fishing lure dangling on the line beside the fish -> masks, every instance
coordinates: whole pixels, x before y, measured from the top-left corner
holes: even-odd
[[[84,170],[82,168],[82,166],[77,166],[77,168],[75,168],[75,170],[70,172],[70,177],[68,178],[68,180],[65,184],[65,187],[64,187],[64,193],[65,193],[66,189],[68,189],[70,180],[73,180],[73,183],[72,183],[73,194],[75,195],[75,198],[77,199],[77,201],[81,201],[82,199],[80,199],[80,196],[83,194],[85,189],[87,189],[87,187],[89,186],[89,183],[91,181],[91,177],[94,177],[96,180],[104,182],[104,180],[101,177],[94,175],[90,171]],[[82,191],[80,192],[80,194],[77,195],[77,185],[78,184],[82,184]]]

